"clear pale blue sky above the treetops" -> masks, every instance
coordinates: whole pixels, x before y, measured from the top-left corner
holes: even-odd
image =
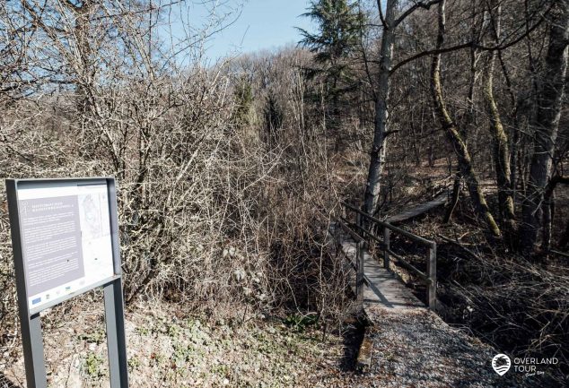
[[[195,1],[188,23],[204,23],[207,10],[215,3],[219,4],[215,13],[230,25],[207,41],[206,55],[212,59],[296,44],[301,34],[295,27],[314,30],[310,19],[300,16],[306,12],[308,0],[221,0],[206,5]],[[183,23],[174,22],[171,29],[174,36],[183,34]]]

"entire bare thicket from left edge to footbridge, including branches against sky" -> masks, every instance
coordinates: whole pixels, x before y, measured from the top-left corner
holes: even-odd
[[[127,303],[167,297],[242,319],[280,306],[343,314],[343,273],[325,247],[337,200],[322,179],[334,169],[326,120],[305,100],[318,83],[303,76],[311,56],[204,65],[209,31],[227,21],[213,8],[174,45],[158,32],[173,6],[2,4],[2,176],[117,178]],[[7,340],[5,206],[0,228]]]

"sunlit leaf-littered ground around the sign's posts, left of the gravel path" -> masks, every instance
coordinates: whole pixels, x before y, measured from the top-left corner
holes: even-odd
[[[341,336],[322,341],[322,332],[278,319],[211,322],[161,303],[136,306],[126,320],[132,387],[323,387],[346,365]],[[109,386],[101,308],[74,306],[57,323],[42,321],[50,387]],[[1,388],[25,386],[21,347],[0,362]]]

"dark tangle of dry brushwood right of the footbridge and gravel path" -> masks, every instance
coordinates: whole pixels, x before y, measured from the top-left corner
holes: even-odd
[[[559,359],[547,375],[564,381],[569,370],[569,272],[544,268],[521,257],[475,257],[462,264],[468,283],[447,292],[463,322],[485,341],[515,357]],[[468,274],[467,274],[468,273]],[[566,384],[566,380],[565,380]]]

